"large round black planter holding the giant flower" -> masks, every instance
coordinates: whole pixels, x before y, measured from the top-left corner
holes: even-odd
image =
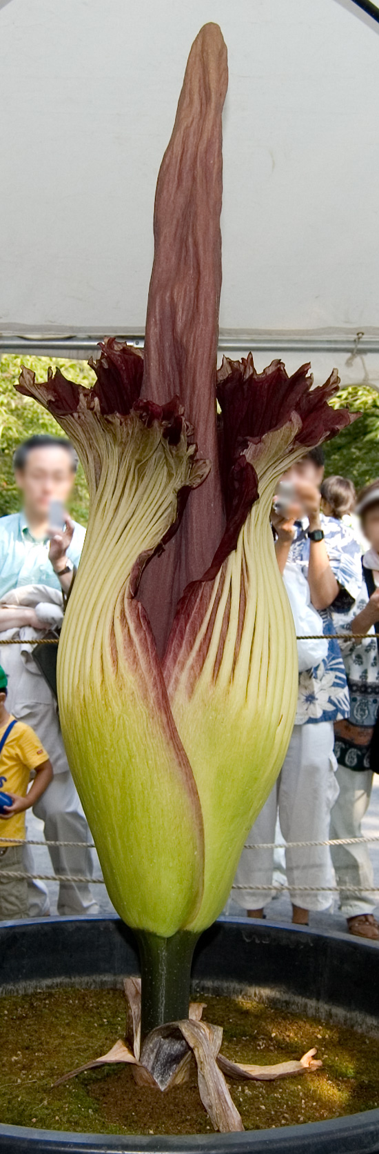
[[[132,934],[114,917],[0,924],[0,994],[44,984],[114,984],[138,973]],[[199,989],[264,989],[304,1011],[379,1031],[379,947],[344,934],[318,934],[236,919],[203,935],[194,962]],[[69,1134],[0,1125],[1,1154],[378,1154],[379,1110],[243,1134],[166,1138]]]

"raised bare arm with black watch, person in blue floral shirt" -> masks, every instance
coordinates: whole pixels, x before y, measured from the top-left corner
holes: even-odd
[[[321,494],[316,486],[309,485],[305,481],[298,482],[297,488],[309,519],[309,532],[312,533],[314,530],[320,530],[323,527],[320,520]],[[327,609],[335,601],[340,586],[334,576],[324,538],[321,541],[312,541],[310,539],[309,544],[308,584],[311,602],[314,609]]]

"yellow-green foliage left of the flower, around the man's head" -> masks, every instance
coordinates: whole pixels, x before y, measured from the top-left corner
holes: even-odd
[[[46,381],[48,366],[60,368],[65,376],[77,384],[93,384],[96,377],[85,361],[68,361],[53,357],[0,358],[0,517],[20,509],[20,497],[13,475],[13,454],[17,444],[35,433],[62,436],[62,429],[51,413],[36,400],[15,391],[22,365],[36,373],[38,381]],[[86,525],[89,515],[88,488],[79,465],[70,501],[69,512],[75,520]]]

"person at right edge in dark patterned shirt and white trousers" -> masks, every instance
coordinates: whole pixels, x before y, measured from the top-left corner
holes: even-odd
[[[370,549],[363,556],[356,604],[343,614],[334,614],[334,625],[338,632],[371,632],[373,636],[341,643],[350,712],[346,720],[334,726],[340,793],[332,810],[331,838],[362,837],[361,823],[372,788],[370,744],[379,709],[378,642],[373,631],[379,622],[379,480],[362,490],[357,511]],[[349,932],[378,941],[379,924],[373,916],[377,900],[374,893],[370,893],[373,870],[366,845],[333,846],[332,859]]]

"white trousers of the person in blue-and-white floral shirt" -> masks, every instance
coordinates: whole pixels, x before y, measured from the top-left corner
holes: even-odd
[[[274,850],[249,847],[274,842],[278,811],[286,841],[328,839],[331,809],[339,788],[333,744],[332,721],[294,727],[278,781],[242,850],[232,897],[243,909],[261,909],[272,898]],[[286,867],[293,905],[303,909],[327,909],[332,905],[328,886],[333,885],[333,869],[327,846],[286,849]],[[309,893],[309,886],[314,892]]]

